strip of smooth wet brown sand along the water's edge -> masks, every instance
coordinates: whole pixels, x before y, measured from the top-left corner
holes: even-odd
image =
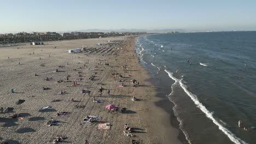
[[[153,74],[150,74],[149,69],[146,65],[142,65],[143,69],[148,71],[149,81],[152,83],[156,89],[154,96],[150,103],[153,103],[153,107],[150,110],[151,119],[150,123],[152,127],[152,137],[156,139],[155,143],[188,143],[185,139],[184,134],[179,129],[179,122],[177,121],[176,116],[174,116],[172,107],[174,104],[166,97],[166,94],[170,94],[170,89],[165,89],[160,86],[159,80],[153,77]],[[170,93],[168,93],[170,92]]]

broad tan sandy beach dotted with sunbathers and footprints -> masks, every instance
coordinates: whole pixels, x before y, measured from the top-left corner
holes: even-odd
[[[112,40],[109,42],[112,44],[108,44],[107,40]],[[97,43],[103,45],[96,46]],[[68,50],[82,46],[92,51],[68,53]],[[158,100],[154,97],[156,87],[147,81],[150,76],[139,64],[134,47],[134,38],[123,37],[1,47],[0,107],[14,107],[14,111],[0,113],[0,141],[51,143],[53,137],[62,135],[67,136],[62,143],[84,143],[85,140],[89,143],[179,143],[178,130],[168,123],[170,118],[166,118],[166,112],[154,104]],[[58,67],[60,65],[64,67]],[[126,70],[123,65],[126,65]],[[95,80],[90,81],[93,73],[97,73]],[[111,73],[119,73],[123,78],[112,78]],[[65,75],[70,75],[71,82],[57,82],[67,81]],[[53,80],[45,81],[46,77]],[[77,80],[79,77],[83,80]],[[132,86],[132,79],[139,81],[139,87]],[[78,83],[75,87],[72,86],[73,80]],[[125,80],[125,87],[118,87],[122,83],[119,80]],[[101,87],[98,83],[104,83],[102,95],[98,92]],[[43,90],[43,87],[50,89]],[[11,88],[15,93],[10,93]],[[110,96],[107,88],[110,89]],[[91,91],[90,96],[79,93],[82,89]],[[60,91],[66,94],[57,95]],[[139,100],[132,101],[133,96]],[[94,97],[103,100],[103,103],[93,103]],[[72,98],[73,102],[67,102]],[[19,99],[25,102],[16,105]],[[54,99],[60,101],[51,102]],[[105,107],[109,104],[126,107],[126,110],[123,113],[108,112]],[[77,109],[75,105],[83,108]],[[43,106],[51,106],[52,109],[39,111]],[[57,116],[57,112],[63,111],[68,114]],[[9,118],[14,113],[20,113],[23,119]],[[88,115],[97,115],[98,121],[83,123]],[[52,117],[59,122],[50,127],[46,123]],[[110,129],[98,129],[101,123],[110,123]],[[126,123],[133,128],[132,134],[136,136],[123,135]]]

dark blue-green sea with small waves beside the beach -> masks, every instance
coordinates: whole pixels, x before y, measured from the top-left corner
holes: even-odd
[[[146,35],[136,51],[185,143],[256,143],[256,32]]]

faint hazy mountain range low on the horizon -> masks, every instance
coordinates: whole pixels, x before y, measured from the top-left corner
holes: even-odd
[[[62,32],[147,32],[147,33],[164,33],[164,32],[185,32],[184,29],[80,29],[77,31]]]

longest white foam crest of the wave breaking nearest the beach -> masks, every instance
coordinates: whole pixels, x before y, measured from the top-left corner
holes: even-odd
[[[230,130],[226,129],[222,124],[220,124],[220,123],[213,117],[213,112],[207,110],[206,107],[205,107],[202,103],[200,103],[200,101],[199,101],[199,99],[196,97],[196,95],[188,91],[187,86],[184,85],[184,83],[182,83],[182,79],[181,79],[181,80],[177,79],[176,77],[174,77],[174,76],[172,75],[172,73],[171,73],[170,71],[168,71],[168,70],[166,70],[166,69],[165,69],[165,72],[168,74],[168,76],[169,76],[172,80],[174,80],[175,82],[179,82],[179,85],[182,87],[182,89],[184,90],[184,92],[189,95],[189,97],[191,98],[191,100],[194,101],[195,105],[196,105],[197,107],[199,107],[199,109],[200,109],[203,113],[205,113],[206,117],[208,117],[209,119],[211,119],[212,122],[213,122],[214,124],[216,124],[216,125],[219,127],[219,129],[222,130],[223,133],[224,133],[226,136],[228,136],[229,139],[230,139],[232,142],[234,142],[234,143],[236,143],[236,144],[241,144],[241,143],[247,144],[247,142],[245,142],[245,141],[241,140],[240,138],[236,137],[235,134],[233,134]]]

